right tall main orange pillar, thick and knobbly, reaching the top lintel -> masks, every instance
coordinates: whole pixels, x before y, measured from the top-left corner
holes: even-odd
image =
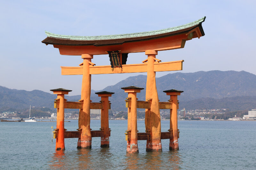
[[[146,50],[145,55],[148,55],[146,100],[152,99],[151,109],[145,110],[145,127],[146,131],[150,132],[151,135],[151,140],[147,140],[146,151],[161,152],[161,119],[158,94],[156,90],[156,72],[154,71],[154,62],[157,51]]]

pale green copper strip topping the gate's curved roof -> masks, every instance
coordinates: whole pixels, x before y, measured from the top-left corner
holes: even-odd
[[[188,24],[184,24],[182,26],[175,26],[172,28],[166,28],[161,30],[155,31],[148,31],[148,32],[140,32],[140,33],[129,33],[129,34],[116,34],[116,35],[100,35],[100,36],[73,36],[73,35],[60,35],[55,33],[50,33],[45,31],[47,37],[57,38],[57,39],[68,39],[68,40],[112,40],[112,39],[122,39],[122,38],[133,38],[133,37],[143,37],[143,36],[151,36],[163,33],[169,33],[173,31],[178,31],[182,29],[186,29],[192,26],[196,26],[204,22],[206,17],[200,18],[194,22],[190,22]]]

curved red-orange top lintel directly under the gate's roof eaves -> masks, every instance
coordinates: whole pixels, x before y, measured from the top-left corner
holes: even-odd
[[[121,50],[121,53],[136,53],[144,52],[146,50],[170,50],[177,48],[184,48],[188,35],[175,35],[170,37],[158,38],[148,41],[125,42],[120,45],[109,46],[65,46],[53,45],[54,48],[59,48],[61,55],[102,55],[107,54],[106,51]]]

